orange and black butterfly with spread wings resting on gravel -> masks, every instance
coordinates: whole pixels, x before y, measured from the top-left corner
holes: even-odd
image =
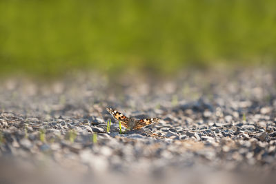
[[[112,116],[121,121],[121,124],[130,130],[137,130],[141,127],[144,127],[146,125],[150,125],[151,123],[158,123],[158,118],[152,118],[152,119],[140,119],[135,120],[134,118],[130,117],[128,118],[124,114],[121,114],[121,112],[118,112],[117,110],[114,110],[112,108],[106,108],[106,110],[112,114]]]

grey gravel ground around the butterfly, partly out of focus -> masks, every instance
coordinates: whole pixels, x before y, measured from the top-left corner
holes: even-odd
[[[268,69],[3,79],[0,183],[275,183],[275,79]],[[107,107],[161,120],[120,134]]]

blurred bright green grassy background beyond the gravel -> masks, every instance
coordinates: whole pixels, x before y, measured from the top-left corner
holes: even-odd
[[[275,0],[0,0],[1,74],[275,63]]]

